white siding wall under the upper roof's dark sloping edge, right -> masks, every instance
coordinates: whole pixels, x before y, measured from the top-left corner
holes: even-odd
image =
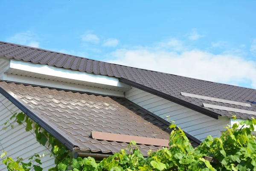
[[[216,120],[138,88],[132,87],[131,90],[125,92],[125,98],[165,120],[175,121],[177,126],[201,141],[207,135],[213,138],[219,137],[223,127],[229,124],[228,117],[219,117]]]

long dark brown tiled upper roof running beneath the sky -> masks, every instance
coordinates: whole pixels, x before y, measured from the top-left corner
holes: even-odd
[[[132,85],[144,91],[148,91],[152,94],[163,97],[167,100],[186,106],[216,119],[218,119],[218,116],[231,117],[233,114],[238,118],[247,119],[253,117],[254,115],[219,109],[210,109],[204,107],[203,103],[256,111],[256,105],[253,103],[251,107],[244,107],[240,105],[202,100],[193,97],[184,97],[180,94],[180,92],[185,92],[247,103],[247,101],[256,101],[256,90],[251,88],[214,83],[173,74],[116,65],[113,63],[105,63],[97,60],[90,60],[87,58],[6,42],[0,42],[0,56],[13,58],[15,60],[23,60],[32,63],[40,63],[43,65],[116,77],[119,78],[120,82]]]

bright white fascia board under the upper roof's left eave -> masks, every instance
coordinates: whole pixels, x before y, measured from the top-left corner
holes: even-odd
[[[25,62],[22,60],[10,60],[10,68],[35,74],[49,75],[70,80],[79,80],[87,83],[110,85],[113,87],[128,88],[128,85],[120,83],[118,78],[108,77],[99,74],[90,74],[71,69],[58,68],[55,66],[41,65],[37,63]]]

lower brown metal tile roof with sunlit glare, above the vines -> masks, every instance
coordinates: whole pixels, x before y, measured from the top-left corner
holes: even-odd
[[[0,93],[70,150],[115,153],[128,143],[93,139],[92,131],[169,140],[169,123],[124,98],[0,82]],[[193,146],[200,141],[187,134]],[[157,145],[138,144],[143,155]]]

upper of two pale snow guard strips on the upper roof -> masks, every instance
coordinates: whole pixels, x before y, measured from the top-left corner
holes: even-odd
[[[251,107],[251,105],[249,103],[242,103],[242,102],[236,102],[236,101],[231,101],[231,100],[218,99],[218,98],[214,98],[214,97],[207,97],[207,96],[201,96],[201,95],[197,95],[197,94],[190,94],[190,93],[184,93],[184,92],[180,92],[180,94],[183,96],[186,96],[186,97],[194,97],[194,98],[198,98],[198,99],[211,100],[211,101],[215,101],[215,102],[222,102],[222,103],[229,103],[229,104],[233,104],[233,105],[242,105],[242,106]]]

